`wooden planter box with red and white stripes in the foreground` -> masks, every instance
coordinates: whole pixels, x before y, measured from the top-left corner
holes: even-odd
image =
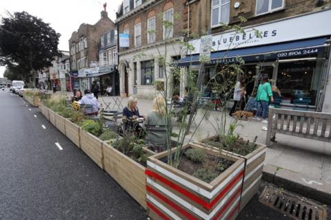
[[[152,219],[235,219],[239,213],[244,159],[203,148],[234,162],[210,184],[162,162],[167,152],[148,157],[147,206]],[[175,148],[172,148],[174,153]]]

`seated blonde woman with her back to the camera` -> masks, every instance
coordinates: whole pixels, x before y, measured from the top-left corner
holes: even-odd
[[[167,148],[167,133],[165,129],[165,108],[166,102],[163,96],[159,95],[153,100],[153,109],[148,113],[143,124],[147,130],[148,147],[159,153]]]

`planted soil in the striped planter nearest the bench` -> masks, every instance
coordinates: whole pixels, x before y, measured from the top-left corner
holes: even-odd
[[[221,140],[219,140],[219,137],[216,137],[214,140],[206,140],[203,143],[242,156],[248,155],[257,149],[257,144],[250,142],[249,140],[245,141],[238,136],[225,137]]]

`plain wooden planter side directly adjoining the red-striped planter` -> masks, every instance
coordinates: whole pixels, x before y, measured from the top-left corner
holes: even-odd
[[[106,142],[103,142],[103,163],[106,172],[146,209],[146,167]]]

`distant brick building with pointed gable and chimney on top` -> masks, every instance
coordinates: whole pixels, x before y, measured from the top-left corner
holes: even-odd
[[[99,39],[114,28],[105,8],[97,23],[82,23],[77,31],[72,32],[69,40],[72,89],[90,89],[94,80],[92,74],[99,74]]]

